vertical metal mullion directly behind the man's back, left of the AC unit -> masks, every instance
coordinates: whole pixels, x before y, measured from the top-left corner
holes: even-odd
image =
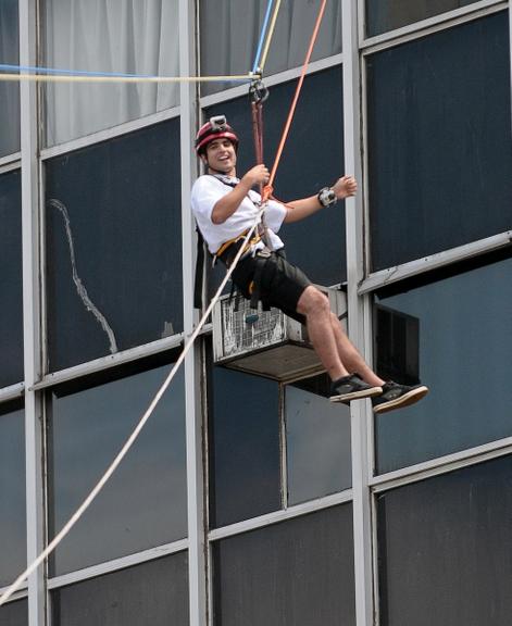
[[[196,74],[195,1],[179,0],[179,73]],[[196,155],[191,150],[196,127],[196,88],[182,83],[180,98],[180,163],[182,163],[182,239],[184,330],[187,338],[193,331],[197,314],[193,310],[193,222],[190,212],[190,186],[196,176]],[[207,562],[204,529],[204,485],[202,411],[200,396],[201,351],[195,346],[185,360],[185,406],[187,438],[187,502],[188,502],[188,579],[190,625],[205,626]]]

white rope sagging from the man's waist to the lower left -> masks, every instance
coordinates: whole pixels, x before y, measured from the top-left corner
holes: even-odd
[[[252,225],[252,227],[250,228],[250,230],[246,235],[246,237],[243,239],[243,245],[240,247],[240,249],[238,250],[232,265],[228,267],[226,275],[224,276],[223,281],[221,283],[218,289],[216,290],[214,297],[212,298],[212,301],[210,302],[208,309],[204,311],[204,314],[201,317],[199,324],[197,325],[193,333],[190,335],[188,341],[185,343],[185,347],[184,347],[182,353],[179,354],[176,363],[174,364],[173,368],[171,370],[170,374],[167,375],[167,377],[163,381],[160,389],[157,391],[157,395],[154,396],[153,400],[151,401],[148,409],[146,410],[146,413],[140,418],[139,423],[137,424],[134,431],[132,433],[132,435],[126,440],[125,445],[123,446],[123,448],[118,452],[117,456],[115,456],[112,464],[107,470],[107,472],[103,474],[103,476],[100,478],[100,480],[98,481],[96,487],[93,487],[93,489],[90,491],[90,493],[87,496],[87,498],[80,504],[80,506],[78,506],[78,509],[76,510],[74,515],[70,518],[70,521],[63,526],[63,528],[60,530],[60,533],[58,535],[55,535],[55,537],[52,539],[52,541],[50,541],[50,543],[39,554],[39,556],[25,569],[25,572],[23,572],[23,574],[20,574],[20,576],[16,578],[16,580],[14,580],[14,583],[0,597],[0,606],[2,604],[4,604],[11,598],[11,596],[21,587],[23,581],[26,580],[28,578],[28,576],[30,576],[30,574],[33,574],[39,567],[39,565],[45,561],[45,559],[48,558],[49,554],[51,554],[51,552],[53,552],[53,550],[59,546],[59,543],[64,539],[64,537],[73,528],[73,526],[78,522],[78,519],[82,517],[82,515],[87,511],[87,509],[89,508],[91,502],[95,500],[95,498],[98,496],[98,493],[104,487],[104,485],[107,484],[109,478],[115,472],[115,470],[117,468],[120,463],[126,456],[128,450],[132,448],[135,440],[137,439],[140,431],[142,430],[146,422],[149,420],[152,412],[154,411],[154,408],[157,406],[157,404],[161,400],[162,396],[165,393],[167,387],[171,385],[172,379],[174,378],[176,372],[178,371],[179,366],[184,362],[185,356],[188,354],[190,348],[192,347],[193,342],[196,341],[199,333],[201,331],[201,328],[204,326],[210,313],[213,310],[213,306],[215,305],[216,301],[221,297],[221,293],[224,290],[224,287],[226,286],[227,281],[229,280],[229,277],[232,276],[233,272],[235,271],[235,267],[237,266],[241,255],[243,254],[245,247],[246,247],[247,242],[249,241],[249,239],[251,238],[252,234],[254,233],[254,229],[257,228],[265,209],[266,209],[266,203],[263,204],[261,206],[261,209],[259,210],[257,218],[254,220],[254,224]]]

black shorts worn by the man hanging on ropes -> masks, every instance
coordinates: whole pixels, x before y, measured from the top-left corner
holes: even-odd
[[[280,309],[285,315],[304,324],[305,317],[297,312],[297,303],[304,289],[312,284],[308,276],[288,263],[284,251],[271,252],[267,258],[249,254],[239,261],[232,275],[245,298],[251,298],[250,285],[257,270],[260,276],[257,288],[262,304]]]

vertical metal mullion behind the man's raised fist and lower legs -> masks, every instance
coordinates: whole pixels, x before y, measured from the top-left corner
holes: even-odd
[[[345,171],[361,180],[361,101],[359,70],[358,4],[342,2],[344,46],[344,137]],[[358,296],[364,275],[363,213],[361,193],[346,200],[347,277],[349,335],[366,355],[365,321],[367,303]],[[351,405],[353,549],[355,580],[355,623],[373,624],[371,508],[369,490],[369,401]]]

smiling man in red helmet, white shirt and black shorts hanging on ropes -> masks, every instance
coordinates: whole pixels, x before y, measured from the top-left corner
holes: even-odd
[[[270,178],[265,165],[255,165],[237,178],[237,149],[238,137],[223,115],[212,117],[199,129],[196,151],[208,174],[193,184],[192,211],[210,252],[227,266],[259,211],[261,197],[253,187],[265,185]],[[357,189],[352,176],[342,176],[317,196],[286,204],[270,200],[264,228],[247,245],[232,277],[253,303],[261,300],[263,305],[276,306],[307,325],[313,348],[332,379],[332,401],[372,398],[374,412],[384,413],[416,402],[428,389],[423,385],[385,383],[367,366],[332,313],[326,296],[301,270],[288,263],[284,243],[277,236],[282,224],[304,220],[338,200],[354,196]]]

